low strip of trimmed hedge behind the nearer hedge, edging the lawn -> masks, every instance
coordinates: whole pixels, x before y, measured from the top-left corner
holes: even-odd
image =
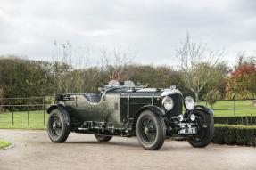
[[[256,117],[214,117],[215,124],[256,125]]]

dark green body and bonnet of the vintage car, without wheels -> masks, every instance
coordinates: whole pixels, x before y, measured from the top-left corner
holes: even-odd
[[[99,124],[98,126],[106,125],[107,128],[131,129],[136,123],[138,111],[145,106],[157,107],[165,112],[167,117],[182,113],[182,94],[179,91],[171,94],[174,100],[178,96],[178,101],[175,101],[176,106],[171,113],[161,106],[163,92],[163,89],[156,88],[113,89],[99,95],[100,100],[97,102],[89,101],[83,93],[63,94],[68,96],[67,100],[58,101],[58,104],[62,104],[67,109],[70,117],[78,120],[78,126],[85,122],[94,122]]]

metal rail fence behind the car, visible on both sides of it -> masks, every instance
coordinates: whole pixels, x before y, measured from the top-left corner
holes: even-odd
[[[29,98],[2,98],[0,104],[0,128],[17,126],[39,128],[47,124],[46,109],[54,103],[54,96]],[[256,116],[256,99],[219,100],[213,105],[207,105],[215,111],[215,116]]]

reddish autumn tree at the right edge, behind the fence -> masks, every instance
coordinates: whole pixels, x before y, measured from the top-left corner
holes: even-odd
[[[231,73],[226,85],[227,98],[250,99],[256,92],[256,65],[244,64]]]

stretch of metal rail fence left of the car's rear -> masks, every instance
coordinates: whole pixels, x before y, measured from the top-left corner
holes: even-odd
[[[46,109],[54,103],[54,97],[2,98],[1,101],[0,127],[45,127]]]

